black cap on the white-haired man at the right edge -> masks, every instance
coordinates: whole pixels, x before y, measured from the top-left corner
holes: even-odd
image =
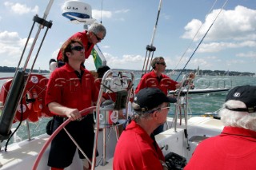
[[[246,108],[232,108],[226,107],[226,109],[238,111],[238,112],[256,112],[256,86],[254,85],[242,85],[230,89],[230,92],[226,95],[226,101],[242,101],[246,104]]]

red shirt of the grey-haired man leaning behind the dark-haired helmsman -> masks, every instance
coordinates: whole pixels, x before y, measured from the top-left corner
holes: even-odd
[[[87,59],[87,58],[90,56],[91,50],[94,48],[94,44],[91,44],[90,46],[88,45],[88,39],[87,39],[86,33],[87,33],[86,30],[83,31],[83,32],[78,32],[78,33],[72,35],[72,36],[69,38],[69,40],[70,40],[71,38],[79,38],[79,39],[81,39],[82,44],[83,44],[84,47],[85,47],[85,58]],[[62,61],[62,49],[60,49],[60,50],[58,51],[57,61]]]

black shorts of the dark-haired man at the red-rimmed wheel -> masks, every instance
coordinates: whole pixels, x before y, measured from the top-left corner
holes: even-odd
[[[54,117],[54,130],[59,125],[62,125],[62,117]],[[82,151],[86,153],[86,156],[92,158],[94,148],[94,118],[93,115],[88,115],[82,121],[71,121],[66,125],[66,130],[78,143]],[[62,129],[58,132],[57,136],[51,142],[50,153],[48,159],[48,166],[54,168],[66,168],[72,163],[74,153],[77,146]],[[82,152],[78,152],[79,157],[84,159]]]

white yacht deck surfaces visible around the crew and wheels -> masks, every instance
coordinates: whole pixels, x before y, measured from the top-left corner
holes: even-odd
[[[171,118],[167,118],[168,124],[172,123]],[[194,148],[197,147],[200,140],[191,140],[194,137],[198,137],[203,140],[210,136],[218,135],[223,128],[221,121],[213,119],[211,117],[192,117],[188,121],[188,139],[184,136],[184,122],[182,125],[178,125],[176,131],[174,128],[170,128],[165,132],[162,132],[156,136],[156,140],[162,148],[164,155],[170,152],[175,152],[180,156],[186,157],[186,160],[190,160]],[[101,156],[102,156],[102,132],[98,135],[98,152],[97,164],[100,164],[95,168],[99,170],[112,169],[112,162],[114,156],[114,148],[116,144],[115,132],[107,130],[109,135],[109,141],[106,148],[106,162],[107,164],[102,166]],[[201,137],[200,137],[201,136]],[[34,160],[41,151],[42,146],[45,144],[49,136],[44,134],[41,136],[34,137],[33,140],[24,140],[17,144],[10,144],[7,148],[7,152],[0,152],[0,168],[1,170],[19,170],[19,169],[31,169],[34,165]],[[187,144],[190,144],[190,150],[187,149]],[[48,170],[47,166],[49,154],[49,147],[42,156],[38,164],[38,170]],[[78,159],[78,153],[74,156],[73,164],[66,170],[71,169],[82,169],[82,161]]]

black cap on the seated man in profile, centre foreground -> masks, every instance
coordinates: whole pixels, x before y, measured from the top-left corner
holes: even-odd
[[[140,109],[135,111],[147,111],[154,109],[164,102],[175,103],[177,100],[173,97],[166,97],[166,94],[158,88],[141,89],[134,97],[134,103],[140,106]]]

